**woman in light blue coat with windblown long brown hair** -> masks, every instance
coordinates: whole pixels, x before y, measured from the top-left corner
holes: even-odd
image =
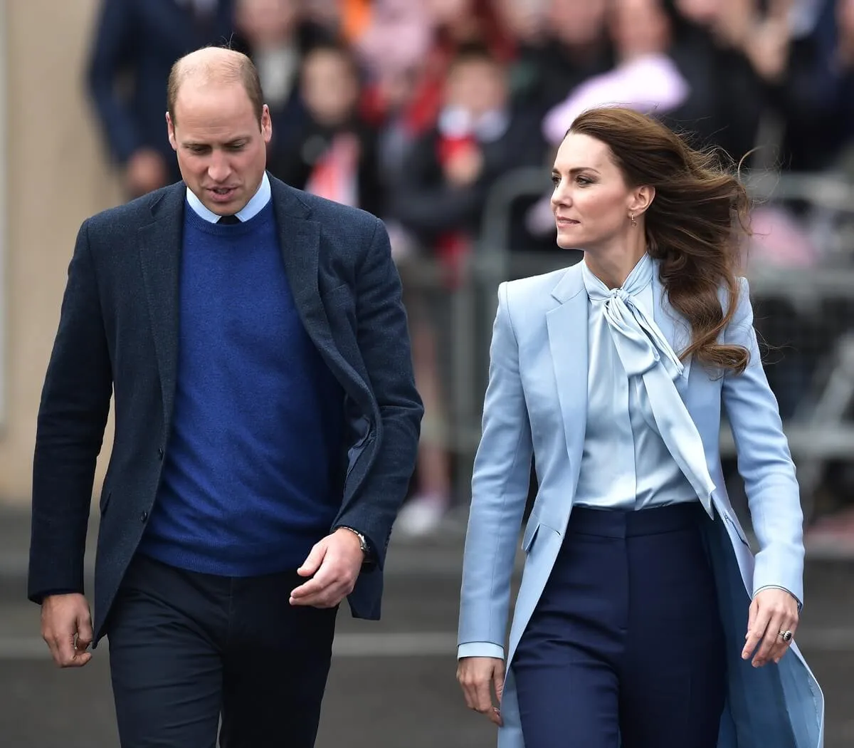
[[[822,692],[793,642],[798,484],[735,275],[746,192],[617,108],[574,121],[553,181],[558,244],[584,260],[499,289],[465,543],[466,703],[500,725],[500,748],[821,746]],[[755,558],[723,487],[721,403]]]

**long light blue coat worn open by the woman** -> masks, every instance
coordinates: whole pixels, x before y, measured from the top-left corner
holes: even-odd
[[[581,265],[502,283],[490,350],[483,436],[475,458],[459,615],[459,657],[505,657],[511,575],[532,454],[539,491],[522,540],[526,555],[512,619],[499,748],[524,748],[513,653],[553,568],[572,510],[587,418],[588,296]],[[674,350],[687,322],[653,274],[654,317]],[[717,510],[706,542],[728,646],[728,698],[718,748],[822,748],[824,698],[798,651],[753,668],[740,657],[754,591],[785,587],[804,599],[803,515],[777,403],[763,373],[749,289],[722,342],[743,345],[743,374],[712,375],[690,359],[676,383],[705,447]],[[722,292],[722,303],[727,304]],[[748,545],[724,488],[721,403],[738,451],[759,551]],[[603,480],[607,480],[603,476]]]

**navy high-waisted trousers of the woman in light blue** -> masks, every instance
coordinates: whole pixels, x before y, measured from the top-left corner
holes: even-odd
[[[525,748],[715,748],[726,666],[702,512],[572,510],[512,663]]]

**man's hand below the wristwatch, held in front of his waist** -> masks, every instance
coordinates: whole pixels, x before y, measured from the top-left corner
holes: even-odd
[[[353,592],[364,561],[356,533],[339,527],[314,545],[296,570],[300,576],[311,579],[290,593],[290,604],[334,608]]]

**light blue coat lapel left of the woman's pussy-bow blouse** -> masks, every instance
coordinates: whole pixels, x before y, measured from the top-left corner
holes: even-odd
[[[552,355],[561,420],[564,422],[570,470],[581,468],[588,406],[588,297],[581,266],[569,268],[552,296],[559,306],[546,314],[548,347]]]

